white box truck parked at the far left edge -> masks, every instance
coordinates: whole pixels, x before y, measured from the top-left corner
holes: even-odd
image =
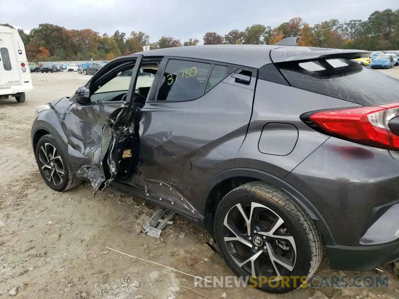
[[[32,90],[32,77],[18,30],[0,26],[0,99],[14,96],[22,103],[25,92]]]

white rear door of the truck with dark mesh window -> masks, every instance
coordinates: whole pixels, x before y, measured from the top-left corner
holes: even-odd
[[[0,86],[20,85],[12,34],[0,32]]]

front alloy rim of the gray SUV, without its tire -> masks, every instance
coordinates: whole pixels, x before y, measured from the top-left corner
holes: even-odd
[[[57,149],[49,143],[40,147],[38,164],[46,179],[55,186],[61,185],[64,181],[64,165]]]

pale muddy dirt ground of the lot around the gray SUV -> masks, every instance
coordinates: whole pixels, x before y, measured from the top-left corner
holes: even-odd
[[[399,78],[399,67],[385,71]],[[89,76],[77,73],[32,74],[34,91],[19,104],[0,101],[0,297],[16,298],[399,298],[392,269],[389,288],[303,288],[271,295],[247,288],[194,288],[188,275],[118,252],[158,262],[192,275],[233,275],[206,242],[209,236],[176,217],[155,239],[140,230],[156,207],[113,189],[93,198],[90,185],[57,193],[45,185],[30,142],[34,109],[73,94]],[[326,259],[316,275],[332,272]],[[346,275],[376,275],[347,272]],[[191,289],[187,289],[191,288]],[[203,297],[199,293],[205,295]],[[224,294],[225,293],[225,294]]]

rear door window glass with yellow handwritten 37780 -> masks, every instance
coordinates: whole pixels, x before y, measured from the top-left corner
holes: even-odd
[[[157,100],[186,101],[203,94],[210,64],[171,59],[166,65]]]

